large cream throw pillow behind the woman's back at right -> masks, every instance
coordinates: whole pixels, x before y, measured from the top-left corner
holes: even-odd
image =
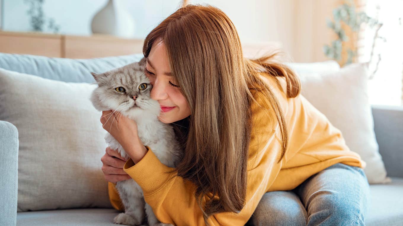
[[[368,181],[390,182],[379,154],[368,98],[367,64],[350,64],[334,72],[298,72],[301,94],[341,130],[347,146],[367,163]]]

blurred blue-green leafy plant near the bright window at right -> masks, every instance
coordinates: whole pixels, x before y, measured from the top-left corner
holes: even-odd
[[[333,11],[333,21],[326,19],[327,27],[331,28],[336,34],[338,39],[332,41],[331,45],[324,45],[323,52],[328,58],[334,60],[341,60],[341,53],[343,51],[343,42],[349,41],[349,37],[346,35],[346,31],[342,27],[342,23],[345,23],[351,28],[351,31],[358,32],[362,23],[368,24],[371,28],[378,26],[380,29],[382,23],[375,18],[368,16],[365,12],[357,12],[355,4],[351,0],[346,0],[341,6],[338,6]],[[376,37],[374,37],[375,41]],[[353,57],[357,55],[357,50],[346,49],[347,60],[345,64],[351,64]]]

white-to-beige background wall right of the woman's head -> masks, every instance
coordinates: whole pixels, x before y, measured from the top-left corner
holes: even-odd
[[[276,41],[295,62],[329,60],[323,45],[336,35],[326,27],[341,0],[193,0],[223,10],[233,21],[241,41]],[[229,3],[231,2],[231,3]]]

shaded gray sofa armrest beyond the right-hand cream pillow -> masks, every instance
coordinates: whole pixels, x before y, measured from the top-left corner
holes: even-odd
[[[372,105],[379,153],[389,177],[403,177],[403,106]]]

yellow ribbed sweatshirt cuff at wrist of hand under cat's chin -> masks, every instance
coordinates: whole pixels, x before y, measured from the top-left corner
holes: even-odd
[[[129,158],[123,166],[123,171],[143,189],[144,196],[158,191],[170,178],[175,176],[174,173],[167,173],[174,168],[160,162],[149,146],[145,146],[145,148],[147,148],[147,153],[139,162],[135,164]]]

